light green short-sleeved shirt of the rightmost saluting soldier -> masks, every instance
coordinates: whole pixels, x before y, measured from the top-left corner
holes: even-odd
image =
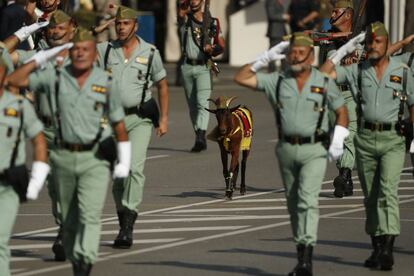
[[[374,67],[369,61],[361,65],[362,114],[369,122],[393,123],[398,121],[400,98],[395,93],[403,90],[403,69],[406,65],[391,57],[382,79],[378,81]],[[410,70],[407,68],[407,70]],[[354,95],[358,92],[358,65],[337,66],[339,83],[348,82]],[[414,103],[414,79],[407,74],[408,104]]]

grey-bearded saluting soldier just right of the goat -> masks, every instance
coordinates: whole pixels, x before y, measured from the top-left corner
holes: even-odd
[[[279,130],[276,156],[282,173],[288,211],[297,245],[298,264],[289,274],[312,275],[312,252],[317,239],[318,197],[327,165],[329,145],[326,109],[337,115],[329,157],[337,159],[349,134],[344,100],[332,79],[311,66],[313,40],[294,33],[288,52],[290,69],[284,73],[257,73],[289,45],[281,42],[242,67],[235,81],[263,91],[275,110]]]

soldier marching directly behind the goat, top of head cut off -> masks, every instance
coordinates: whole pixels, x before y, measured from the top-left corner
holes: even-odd
[[[196,134],[195,144],[191,152],[200,152],[207,149],[206,129],[209,113],[207,99],[212,90],[211,72],[217,70],[211,57],[224,51],[224,38],[220,32],[218,18],[211,18],[208,26],[208,39],[202,33],[203,3],[205,0],[180,1],[178,25],[182,45],[183,62],[181,74],[185,96],[190,109],[190,118]],[[207,11],[206,11],[207,12]],[[213,38],[213,43],[211,43]],[[206,45],[204,41],[208,41]],[[217,72],[217,71],[216,71]]]

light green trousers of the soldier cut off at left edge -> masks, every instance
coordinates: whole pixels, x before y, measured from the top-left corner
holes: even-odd
[[[19,196],[12,186],[0,181],[0,275],[9,276],[9,240],[19,209]]]

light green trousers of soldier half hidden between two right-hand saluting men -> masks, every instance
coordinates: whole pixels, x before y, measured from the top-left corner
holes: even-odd
[[[344,141],[344,153],[336,162],[338,168],[353,169],[355,165],[355,144],[354,138],[357,131],[357,114],[356,114],[356,103],[351,91],[341,92],[345,99],[345,106],[348,109],[349,124],[348,130],[349,135]]]

